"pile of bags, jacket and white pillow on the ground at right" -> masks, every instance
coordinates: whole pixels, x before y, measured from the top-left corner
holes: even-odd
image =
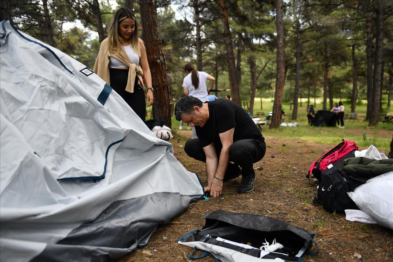
[[[393,159],[373,145],[357,149],[355,142],[342,139],[312,163],[306,177],[319,181],[314,203],[328,212],[345,211],[347,220],[393,229]]]

